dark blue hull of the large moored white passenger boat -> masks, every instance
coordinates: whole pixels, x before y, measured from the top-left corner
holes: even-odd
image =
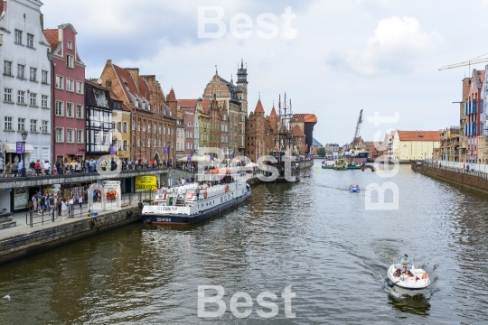
[[[206,209],[200,213],[194,215],[182,215],[182,214],[145,214],[143,215],[143,222],[145,224],[153,224],[158,226],[170,226],[170,225],[192,225],[198,222],[202,222],[204,220],[210,218],[217,218],[221,216],[226,211],[231,209],[236,209],[248,200],[250,195],[250,190],[246,192],[246,194],[236,198],[234,200],[229,200],[227,202],[221,203],[216,207],[212,207],[211,209]]]

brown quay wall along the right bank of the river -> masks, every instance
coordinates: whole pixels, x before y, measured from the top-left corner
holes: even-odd
[[[466,172],[454,172],[443,168],[435,168],[427,165],[418,165],[413,163],[412,170],[420,172],[426,176],[432,177],[439,181],[446,181],[465,188],[466,190],[474,190],[476,192],[488,194],[488,174],[470,175]]]

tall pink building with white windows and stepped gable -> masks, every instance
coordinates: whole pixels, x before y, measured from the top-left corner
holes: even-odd
[[[44,30],[52,50],[52,150],[56,161],[83,159],[85,153],[85,64],[70,23]]]

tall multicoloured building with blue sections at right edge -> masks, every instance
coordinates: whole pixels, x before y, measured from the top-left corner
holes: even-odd
[[[473,70],[469,80],[469,91],[465,101],[465,136],[467,140],[467,163],[479,163],[477,140],[481,134],[481,90],[484,79],[484,70]],[[465,85],[464,85],[465,86]],[[465,90],[465,89],[464,89]]]

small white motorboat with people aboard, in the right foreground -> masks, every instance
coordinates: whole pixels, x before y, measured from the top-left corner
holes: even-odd
[[[403,269],[402,263],[407,261],[407,269],[410,274],[399,274]],[[400,270],[398,272],[397,270]],[[427,272],[421,268],[415,268],[414,259],[409,257],[395,257],[388,271],[389,286],[400,293],[410,296],[425,294],[430,284]]]

